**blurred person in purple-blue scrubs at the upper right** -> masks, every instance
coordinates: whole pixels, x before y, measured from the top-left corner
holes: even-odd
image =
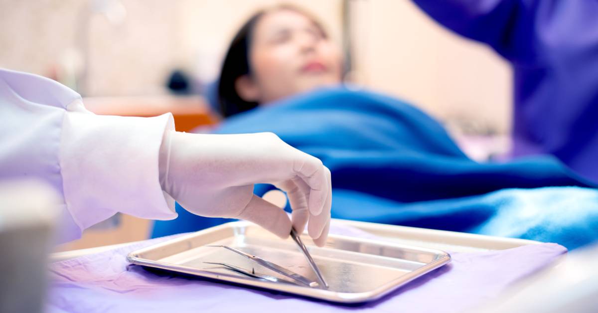
[[[514,156],[553,154],[598,181],[598,1],[414,0],[514,69]]]

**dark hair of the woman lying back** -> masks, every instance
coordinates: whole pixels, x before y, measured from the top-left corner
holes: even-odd
[[[318,28],[324,32],[324,28],[322,28],[321,24],[311,14],[292,5],[278,5],[268,10],[260,10],[251,16],[239,29],[237,34],[234,35],[233,41],[231,41],[224,57],[224,62],[222,62],[220,78],[218,79],[218,102],[222,117],[230,117],[234,114],[249,111],[257,108],[259,105],[258,102],[245,101],[245,99],[241,98],[239,93],[237,93],[235,81],[237,78],[251,73],[249,49],[251,48],[255,25],[257,25],[264,14],[275,10],[292,10],[304,14],[310,17],[318,25]]]

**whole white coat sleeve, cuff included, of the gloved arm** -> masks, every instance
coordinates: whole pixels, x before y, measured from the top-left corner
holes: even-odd
[[[171,114],[97,116],[56,81],[0,68],[0,180],[43,181],[62,196],[60,242],[117,212],[176,217],[158,169],[173,127]]]

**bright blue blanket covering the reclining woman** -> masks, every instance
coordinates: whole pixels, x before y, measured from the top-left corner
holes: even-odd
[[[513,236],[568,248],[598,236],[598,192],[559,160],[536,156],[477,163],[437,121],[388,96],[318,90],[238,114],[215,130],[252,132],[274,132],[328,166],[335,218]],[[578,187],[541,188],[549,186]],[[259,185],[255,192],[269,189]],[[176,220],[157,221],[154,236],[220,222],[205,225],[206,218],[178,212]]]

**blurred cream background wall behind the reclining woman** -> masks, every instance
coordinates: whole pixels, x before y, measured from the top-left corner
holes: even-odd
[[[342,0],[0,0],[0,66],[77,87],[70,77],[87,56],[87,96],[164,95],[174,68],[213,80],[237,28],[280,2],[315,13],[340,44]],[[511,69],[493,51],[408,0],[348,3],[353,80],[449,123],[508,132]]]

